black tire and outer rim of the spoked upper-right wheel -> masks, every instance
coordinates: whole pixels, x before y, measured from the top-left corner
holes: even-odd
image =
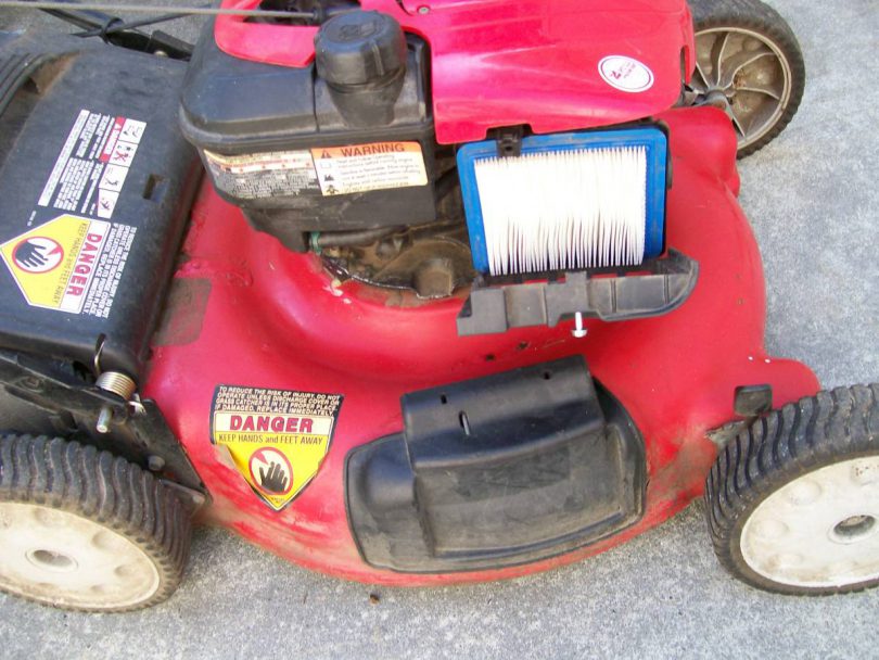
[[[705,58],[710,58],[706,50],[711,50],[710,46],[713,43],[712,34],[724,29],[748,30],[760,35],[760,38],[775,52],[779,66],[786,66],[790,73],[790,86],[787,92],[781,93],[781,98],[777,101],[763,100],[770,104],[777,103],[778,107],[776,110],[766,109],[768,114],[766,114],[764,120],[756,123],[757,126],[754,127],[753,135],[742,135],[742,131],[737,128],[739,138],[738,156],[740,158],[744,157],[772,142],[790,123],[793,115],[797,114],[800,101],[803,98],[806,79],[803,52],[787,21],[772,7],[760,0],[689,0],[689,4],[693,15],[697,43],[696,59],[698,62],[703,62]],[[699,82],[700,78],[698,71],[693,73],[692,85],[695,88],[703,87]],[[709,80],[703,82],[709,88],[712,87]],[[738,82],[726,90],[726,96],[732,103],[732,110],[735,110],[736,93],[742,93],[736,91],[737,87]],[[750,106],[754,102],[763,101],[755,101],[755,97],[752,94],[750,100],[746,98],[743,102]],[[696,100],[697,104],[706,102],[714,104],[704,94],[699,96]],[[773,112],[768,112],[769,110],[773,110]]]

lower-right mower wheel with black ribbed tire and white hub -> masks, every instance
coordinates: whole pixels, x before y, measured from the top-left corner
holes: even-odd
[[[782,594],[838,594],[879,584],[877,398],[879,398],[877,384],[819,392],[816,396],[802,398],[795,404],[772,411],[721,450],[705,483],[704,503],[714,551],[727,571],[752,586]],[[850,465],[854,470],[855,466],[864,464],[870,466],[869,469],[872,471],[848,471]],[[826,479],[842,469],[846,470],[845,474],[851,474],[852,480],[855,479],[855,474],[869,480],[865,482],[868,485],[858,483],[856,487],[846,486],[856,492],[856,506],[869,509],[869,516],[852,516],[851,510],[848,513],[841,512],[844,509],[841,507],[838,509],[839,517],[845,518],[839,524],[833,525],[832,521],[829,524],[820,522],[826,519],[824,513],[829,510],[832,515],[832,507],[837,506],[833,504],[833,497],[837,495],[832,488],[836,482],[830,482],[830,488],[818,490],[820,497],[818,504],[794,499],[794,504],[791,505],[790,499],[782,499],[798,493],[791,488],[802,488],[816,483],[820,485],[823,482],[819,478]],[[786,486],[788,488],[782,491]],[[825,491],[826,495],[821,494]],[[839,492],[841,493],[842,488]],[[772,497],[775,498],[770,499]],[[828,503],[829,509],[821,503]],[[802,510],[801,506],[804,507]],[[761,513],[757,513],[759,511]],[[866,510],[858,509],[858,512],[866,513]],[[798,534],[802,531],[802,526],[798,530],[797,525],[785,516],[792,517],[794,522],[805,519],[808,521],[807,529],[818,529],[820,533],[806,536],[807,544],[803,544],[803,536],[790,538],[798,544],[798,548],[801,548],[797,551],[805,559],[806,568],[816,558],[823,561],[820,557],[827,556],[827,548],[830,548],[831,553],[839,553],[835,556],[833,562],[828,564],[829,572],[813,573],[811,569],[806,570],[802,566],[793,569],[781,566],[766,570],[766,567],[773,566],[773,559],[763,561],[766,555],[759,557],[757,553],[752,553],[757,559],[749,561],[743,548],[750,542],[748,540],[743,542],[743,531],[749,520],[757,520],[760,516],[765,515],[777,516],[776,519],[769,519],[769,522],[775,521],[774,524],[777,524],[780,521],[782,526],[779,529],[782,535]],[[862,545],[856,546],[849,538],[843,541],[835,538],[838,529],[839,531],[853,529],[841,525],[853,524],[848,521],[855,518],[859,520],[854,522],[865,528],[863,538],[856,540]],[[757,534],[756,525],[753,530],[753,534]],[[782,538],[785,537],[787,536]],[[778,541],[760,540],[759,546],[766,547],[767,543],[779,544]],[[865,554],[864,566],[869,570],[859,574],[851,572],[835,574],[835,570],[843,571],[843,569],[832,567],[842,566],[844,553],[852,551]],[[821,580],[817,579],[819,574]]]

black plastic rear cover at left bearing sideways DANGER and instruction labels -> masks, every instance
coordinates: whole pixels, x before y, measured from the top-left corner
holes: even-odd
[[[0,347],[138,378],[198,182],[186,65],[0,40]]]

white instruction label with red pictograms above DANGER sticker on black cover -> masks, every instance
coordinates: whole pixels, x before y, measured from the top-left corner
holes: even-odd
[[[37,205],[112,218],[145,129],[137,119],[79,111]]]

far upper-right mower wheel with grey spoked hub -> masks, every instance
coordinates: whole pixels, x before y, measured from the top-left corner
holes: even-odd
[[[805,88],[800,43],[760,0],[689,0],[696,72],[686,94],[732,120],[739,157],[768,144],[790,123]]]

